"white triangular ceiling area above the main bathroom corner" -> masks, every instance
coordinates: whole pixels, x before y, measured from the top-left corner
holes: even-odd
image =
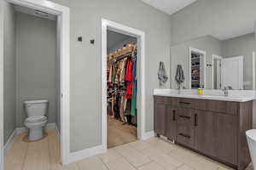
[[[158,8],[160,11],[166,14],[174,14],[177,11],[187,7],[191,3],[195,3],[197,0],[142,0],[148,5]]]

